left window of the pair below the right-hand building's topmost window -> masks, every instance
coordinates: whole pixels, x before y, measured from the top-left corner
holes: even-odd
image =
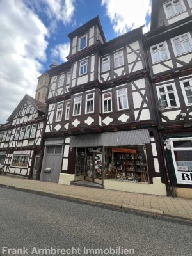
[[[166,42],[150,47],[152,62],[156,63],[170,58]]]

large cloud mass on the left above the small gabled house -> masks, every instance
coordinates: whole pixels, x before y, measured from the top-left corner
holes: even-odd
[[[24,1],[0,1],[0,123],[26,93],[35,96],[48,30]]]

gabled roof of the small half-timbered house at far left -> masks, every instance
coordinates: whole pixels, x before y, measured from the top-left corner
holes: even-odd
[[[42,113],[45,113],[45,109],[46,109],[46,104],[43,102],[40,102],[36,99],[34,99],[33,97],[29,96],[28,94],[24,95],[24,97],[22,98],[22,100],[20,100],[19,104],[17,105],[17,107],[14,109],[13,113],[10,115],[10,117],[7,119],[8,121],[11,121],[13,116],[15,116],[17,114],[17,112],[20,111],[20,108],[22,108],[22,105],[26,102],[26,100],[29,100],[29,102],[31,102],[31,104],[33,105],[33,107],[37,110],[40,111]]]

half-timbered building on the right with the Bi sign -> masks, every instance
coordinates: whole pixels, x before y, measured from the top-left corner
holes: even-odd
[[[192,1],[152,1],[144,35],[166,176],[178,196],[192,197]]]

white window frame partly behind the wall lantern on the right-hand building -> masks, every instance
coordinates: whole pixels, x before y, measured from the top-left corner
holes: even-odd
[[[167,87],[168,86],[172,86],[173,90],[172,91],[168,91],[167,90]],[[159,91],[159,88],[162,88],[162,87],[166,87],[166,90],[164,92],[160,92]],[[161,99],[161,95],[166,95],[166,102],[168,103],[168,106],[165,108],[165,109],[172,109],[172,108],[179,108],[180,107],[180,102],[179,102],[179,97],[178,97],[178,94],[177,94],[177,90],[176,90],[176,86],[175,86],[175,83],[170,83],[170,84],[162,84],[162,85],[159,85],[157,86],[157,96],[158,96],[158,99],[160,98]],[[170,98],[167,96],[169,93],[173,93],[174,96],[175,96],[175,102],[176,102],[176,106],[171,106],[170,104]]]

